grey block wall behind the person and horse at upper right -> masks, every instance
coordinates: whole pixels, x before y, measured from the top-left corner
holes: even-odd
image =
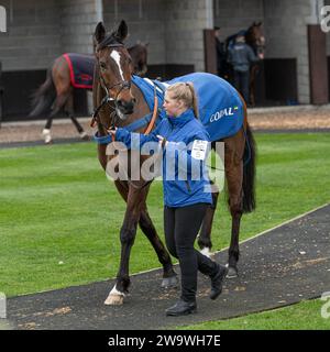
[[[222,29],[223,40],[253,21],[263,21],[265,58],[297,59],[300,103],[310,101],[307,38],[310,14],[310,0],[215,0],[215,24]]]

